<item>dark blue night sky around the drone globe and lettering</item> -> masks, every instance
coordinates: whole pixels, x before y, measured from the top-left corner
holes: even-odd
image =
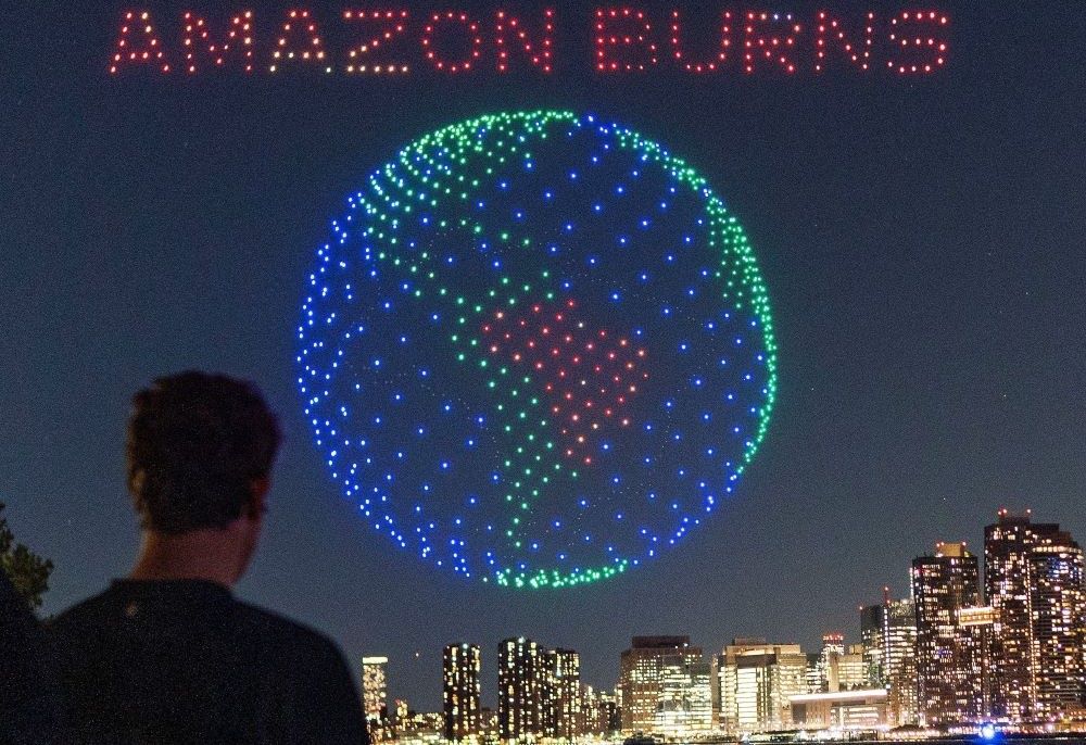
[[[839,61],[816,77],[809,38],[791,79],[670,64],[597,76],[582,2],[559,9],[550,77],[489,72],[489,40],[485,70],[455,78],[426,72],[417,47],[397,78],[111,77],[128,7],[70,4],[0,24],[0,501],[56,564],[47,613],[127,571],[129,399],[190,367],[255,380],[287,433],[239,594],[355,662],[387,654],[390,694],[420,709],[439,706],[449,642],[482,645],[485,700],[497,642],[517,634],[578,649],[584,680],[609,686],[633,634],[706,649],[763,635],[813,651],[829,630],[858,641],[858,605],[884,584],[906,594],[909,560],[937,540],[978,545],[1001,506],[1086,539],[1079,3],[944,0],[947,66],[908,79]],[[786,5],[809,34],[821,7]],[[251,7],[265,62],[282,5]],[[489,20],[498,4],[457,7]],[[148,8],[176,49],[189,7]],[[342,33],[342,5],[308,8],[329,41]],[[540,108],[620,121],[709,179],[760,262],[779,389],[737,494],[680,548],[590,586],[516,592],[437,569],[358,519],[311,444],[292,361],[303,280],[345,195],[443,124]]]

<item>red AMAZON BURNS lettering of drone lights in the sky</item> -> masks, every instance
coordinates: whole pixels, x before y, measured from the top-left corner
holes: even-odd
[[[348,8],[318,20],[305,9],[286,15],[248,9],[214,24],[185,12],[177,29],[174,18],[162,28],[151,10],[129,10],[122,14],[109,71],[169,74],[179,64],[189,75],[308,70],[403,77],[421,70],[459,77],[485,71],[545,76],[563,59],[555,40],[557,16],[553,8],[469,14],[395,5]],[[712,28],[711,43],[690,38],[698,36],[690,31],[699,24]],[[661,68],[770,77],[883,70],[913,76],[936,73],[946,64],[950,18],[932,8],[877,14],[823,9],[800,17],[787,10],[661,13],[610,5],[596,8],[577,25],[591,45],[590,58],[582,62],[613,77]]]

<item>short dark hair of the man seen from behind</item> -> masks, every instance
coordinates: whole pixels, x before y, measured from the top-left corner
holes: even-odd
[[[272,470],[281,432],[250,382],[189,370],[132,396],[128,491],[144,530],[224,528]]]

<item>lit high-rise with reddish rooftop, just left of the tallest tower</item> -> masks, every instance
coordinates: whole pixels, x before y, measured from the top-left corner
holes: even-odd
[[[989,665],[986,644],[993,636],[975,628],[983,623],[973,616],[961,613],[980,606],[976,556],[964,543],[939,543],[934,555],[913,559],[911,573],[917,678],[925,723],[942,727],[987,719],[990,695],[978,671]]]

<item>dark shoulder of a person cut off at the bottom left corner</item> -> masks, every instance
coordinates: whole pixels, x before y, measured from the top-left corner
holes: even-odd
[[[51,661],[38,619],[0,569],[0,743],[65,742]]]

